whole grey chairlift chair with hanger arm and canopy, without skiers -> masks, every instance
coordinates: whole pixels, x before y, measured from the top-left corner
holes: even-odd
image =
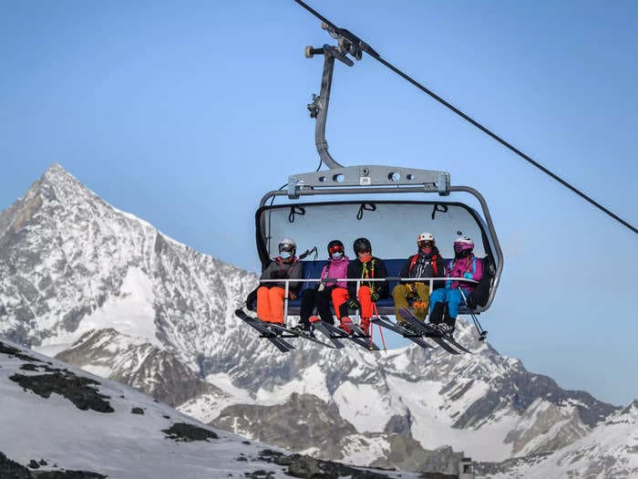
[[[277,245],[282,238],[293,238],[299,251],[315,247],[319,255],[325,255],[333,239],[341,240],[348,254],[355,238],[365,236],[372,243],[374,255],[386,263],[388,290],[392,291],[406,257],[414,254],[418,234],[423,231],[434,234],[444,258],[454,257],[453,242],[458,234],[464,234],[473,239],[475,255],[484,258],[489,293],[481,305],[472,310],[461,307],[459,314],[471,314],[479,338],[485,338],[486,331],[480,328],[474,315],[489,309],[503,269],[503,254],[487,202],[474,188],[452,185],[448,172],[374,164],[343,166],[334,161],[325,140],[334,59],[352,67],[355,62],[350,57],[360,60],[364,51],[374,50],[347,30],[327,23],[322,27],[337,40],[337,45],[306,47],[305,56],[324,57],[321,91],[313,96],[308,110],[316,120],[315,145],[327,169],[292,174],[285,189],[263,195],[255,213],[255,239],[262,268],[278,254]],[[468,203],[452,200],[452,195],[458,193],[471,195],[478,202],[480,213]],[[422,194],[429,198],[421,199]],[[314,287],[325,262],[317,261],[315,254],[314,259],[304,258],[302,264],[303,288]],[[248,298],[249,309],[253,309],[253,301],[253,297]],[[284,305],[284,317],[299,315],[300,299],[286,300]],[[391,297],[380,299],[376,307],[381,318],[395,314]],[[246,314],[238,311],[238,317],[245,320]],[[383,322],[377,323],[383,325]],[[260,332],[268,337],[269,333]],[[273,336],[276,338],[277,334]],[[427,334],[421,331],[418,336],[427,337]],[[334,334],[330,338],[339,340]],[[421,346],[429,347],[427,343]],[[282,347],[280,342],[278,348],[287,347]]]

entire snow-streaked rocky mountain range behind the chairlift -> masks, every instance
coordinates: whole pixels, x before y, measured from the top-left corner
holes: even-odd
[[[471,356],[312,343],[281,354],[232,313],[255,284],[59,165],[0,213],[0,334],[232,432],[325,459],[452,473],[461,453],[560,452],[619,410],[530,373],[463,322]]]

